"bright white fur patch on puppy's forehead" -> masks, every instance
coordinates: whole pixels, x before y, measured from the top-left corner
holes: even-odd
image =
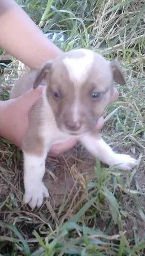
[[[84,55],[78,58],[73,57],[73,55],[71,57],[70,55],[68,58],[63,59],[63,63],[68,70],[71,81],[75,81],[81,85],[86,80],[88,72],[92,67],[94,54],[90,50],[81,49],[74,50],[75,55],[77,51],[78,54],[84,53]]]

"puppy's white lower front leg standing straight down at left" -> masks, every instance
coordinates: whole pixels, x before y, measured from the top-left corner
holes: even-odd
[[[23,200],[25,203],[29,203],[30,207],[34,209],[36,205],[37,207],[42,205],[44,197],[49,197],[49,191],[42,181],[45,173],[47,150],[41,156],[23,151],[23,156],[25,186]]]

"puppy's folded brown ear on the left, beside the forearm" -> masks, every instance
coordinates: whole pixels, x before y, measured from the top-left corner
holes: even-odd
[[[51,72],[52,62],[47,62],[44,67],[38,71],[33,88],[36,89],[43,81],[43,79],[46,78],[46,75]]]

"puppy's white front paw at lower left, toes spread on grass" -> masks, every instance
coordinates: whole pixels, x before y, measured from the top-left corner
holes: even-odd
[[[25,189],[25,195],[23,201],[30,205],[31,209],[35,206],[40,207],[43,203],[44,197],[50,197],[49,191],[41,181],[37,185],[31,185]]]

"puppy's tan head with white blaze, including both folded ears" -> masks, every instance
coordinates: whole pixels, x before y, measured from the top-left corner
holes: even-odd
[[[79,135],[94,129],[113,90],[113,80],[125,84],[115,61],[90,50],[74,50],[46,63],[34,88],[47,83],[46,98],[61,131]]]

